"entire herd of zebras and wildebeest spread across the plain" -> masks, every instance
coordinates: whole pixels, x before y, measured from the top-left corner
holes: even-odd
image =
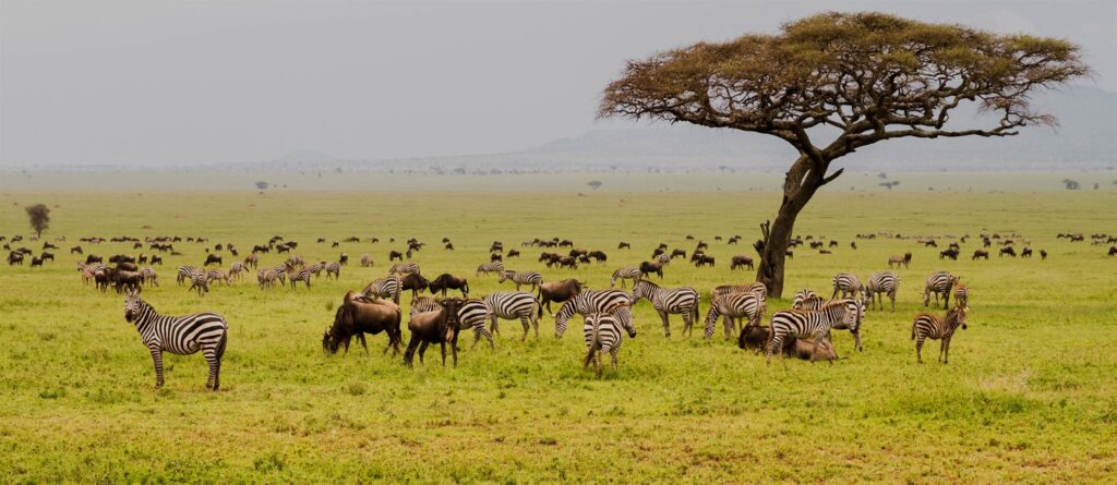
[[[914,239],[918,244],[925,246],[938,246],[941,237],[914,237],[887,232],[858,234],[857,240],[875,239]],[[956,239],[939,253],[939,259],[956,260],[961,253],[961,244],[965,244],[968,235],[955,237],[945,235],[945,239]],[[688,241],[694,237],[687,235]],[[1000,234],[980,235],[982,249],[973,252],[972,259],[989,259],[989,251],[985,249],[997,244],[1001,256],[1018,256],[1014,249],[1016,242],[1023,244],[1019,255],[1029,258],[1032,255],[1030,242],[1018,234],[1002,236]],[[1082,242],[1086,237],[1082,234],[1058,234],[1058,239],[1067,239],[1070,242]],[[715,237],[722,241],[720,236]],[[1090,236],[1092,244],[1114,244],[1117,236],[1107,234],[1094,234]],[[9,265],[22,264],[25,256],[34,251],[27,248],[12,249],[11,244],[22,242],[22,236],[13,236],[8,240],[0,236],[0,242],[4,243],[4,250],[9,251]],[[35,239],[30,239],[35,241]],[[58,242],[64,242],[65,237],[59,237]],[[183,317],[161,316],[149,303],[141,298],[141,292],[145,285],[159,285],[159,277],[154,265],[162,265],[163,258],[157,253],[170,253],[181,255],[175,250],[175,244],[195,243],[206,244],[206,259],[201,266],[183,265],[175,272],[176,283],[185,287],[189,283],[189,291],[197,291],[198,295],[203,295],[210,291],[213,283],[232,285],[241,281],[250,270],[257,271],[257,284],[261,290],[290,283],[292,289],[297,288],[302,282],[309,288],[312,278],[319,278],[324,272],[326,279],[340,278],[341,270],[349,263],[349,255],[341,253],[337,261],[312,262],[307,264],[303,258],[295,254],[298,243],[285,241],[284,237],[273,236],[267,244],[255,245],[251,252],[240,259],[239,251],[233,244],[216,244],[212,251],[209,248],[207,237],[179,237],[160,236],[140,240],[136,237],[82,237],[80,242],[87,246],[95,246],[104,242],[130,243],[134,250],[146,249],[151,254],[141,253],[137,256],[128,254],[116,254],[108,258],[105,263],[102,256],[85,254],[82,245],[70,249],[71,254],[84,255],[84,261],[77,263],[77,270],[85,284],[93,283],[102,292],[113,288],[117,293],[125,293],[125,319],[132,322],[139,330],[143,343],[147,347],[154,361],[156,387],[163,385],[162,353],[171,352],[178,355],[191,355],[201,351],[209,365],[210,375],[207,388],[217,390],[220,386],[221,358],[225,353],[228,341],[229,324],[223,317],[217,313],[195,313]],[[736,235],[727,240],[728,244],[737,244],[741,236]],[[324,237],[317,240],[319,244],[326,243]],[[361,243],[360,237],[352,236],[345,242]],[[373,237],[370,243],[378,243]],[[389,242],[394,243],[392,239]],[[442,240],[443,249],[454,251],[454,244],[449,239]],[[340,245],[333,242],[333,248]],[[454,365],[458,361],[458,334],[462,330],[472,330],[475,334],[474,346],[485,339],[490,347],[495,348],[494,334],[499,334],[499,320],[519,320],[523,326],[522,339],[526,339],[534,330],[538,338],[540,319],[544,309],[555,319],[555,336],[562,337],[569,326],[570,320],[579,314],[583,318],[583,338],[586,345],[586,353],[583,359],[583,367],[593,365],[594,372],[601,377],[604,370],[604,359],[611,360],[612,367],[618,365],[618,352],[623,342],[624,334],[629,338],[636,337],[636,326],[632,317],[632,308],[642,300],[648,300],[659,316],[663,326],[663,332],[670,337],[670,316],[678,314],[682,320],[682,333],[690,336],[693,327],[701,319],[699,307],[701,303],[700,293],[690,287],[663,288],[651,281],[651,277],[663,278],[663,268],[672,260],[687,258],[687,252],[681,249],[668,251],[667,244],[657,246],[649,261],[642,262],[638,266],[626,266],[613,271],[610,278],[609,289],[590,289],[585,282],[577,279],[562,279],[558,281],[544,281],[540,272],[519,272],[508,270],[504,266],[506,259],[521,256],[521,250],[510,249],[507,252],[504,244],[494,241],[489,248],[489,261],[477,266],[474,277],[496,275],[499,283],[510,282],[515,285],[515,291],[494,292],[485,297],[469,295],[469,281],[465,277],[441,273],[437,278],[429,280],[420,270],[419,263],[410,261],[413,253],[419,252],[426,244],[417,239],[407,241],[405,251],[391,251],[389,261],[395,262],[391,265],[384,278],[379,278],[366,284],[361,291],[349,291],[343,298],[342,304],[336,309],[333,324],[325,330],[322,338],[322,346],[330,352],[336,353],[340,348],[349,351],[349,346],[355,337],[367,351],[365,334],[385,333],[388,336],[389,349],[394,353],[400,352],[402,345],[402,310],[400,308],[400,297],[404,291],[411,291],[410,314],[408,317],[408,330],[410,341],[403,351],[403,362],[412,366],[414,353],[418,351],[420,362],[423,360],[427,348],[437,343],[441,348],[442,365],[446,365],[447,348],[449,347]],[[800,237],[790,241],[787,256],[793,256],[792,250],[798,246],[809,245],[812,250],[818,250],[821,254],[829,254],[831,248],[838,246],[838,242],[825,237]],[[544,251],[540,254],[538,262],[545,263],[547,268],[565,269],[577,268],[579,264],[605,263],[608,255],[603,251],[590,251],[575,249],[570,240],[553,237],[550,240],[534,239],[524,241],[522,248],[554,249],[551,252]],[[757,241],[754,248],[763,248],[763,242]],[[857,249],[857,241],[850,242],[852,250]],[[42,243],[40,255],[31,258],[31,265],[42,265],[45,261],[54,261],[54,254],[47,250],[58,250],[51,242]],[[618,251],[629,251],[631,244],[621,242]],[[708,244],[701,241],[696,243],[695,250],[690,252],[689,261],[697,268],[714,266],[716,260],[706,253]],[[281,264],[275,266],[260,268],[260,254],[288,253]],[[226,256],[236,259],[231,261],[228,270],[220,266],[225,263]],[[1047,251],[1039,250],[1040,258],[1046,260]],[[1108,254],[1117,255],[1117,245],[1110,246]],[[408,261],[404,260],[407,256]],[[827,299],[814,291],[803,289],[795,293],[792,300],[792,308],[774,312],[767,326],[763,324],[763,319],[767,311],[767,287],[761,282],[746,284],[725,284],[710,290],[707,312],[703,320],[704,337],[710,338],[716,332],[717,321],[723,320],[726,338],[737,336],[737,343],[743,349],[754,349],[763,351],[768,362],[774,355],[796,357],[804,360],[833,361],[838,359],[833,345],[831,343],[832,330],[848,330],[855,340],[855,348],[860,351],[861,326],[866,310],[885,310],[884,299],[887,297],[891,304],[891,311],[896,311],[896,298],[900,285],[900,278],[894,268],[909,268],[911,253],[894,255],[888,259],[888,271],[879,271],[869,275],[866,280],[859,279],[853,273],[841,272],[833,277],[832,293]],[[362,255],[361,266],[373,266],[373,258],[369,254]],[[143,265],[143,266],[141,266]],[[210,266],[217,266],[210,269]],[[753,258],[745,254],[737,254],[731,259],[731,269],[754,269]],[[617,289],[617,284],[620,289]],[[631,289],[628,289],[628,287]],[[524,287],[529,287],[528,291],[522,291]],[[420,295],[423,291],[430,291],[433,297]],[[449,297],[448,291],[460,292],[460,297]],[[927,277],[924,284],[924,305],[929,307],[934,297],[935,304],[942,301],[944,316],[920,312],[911,323],[911,339],[915,341],[916,358],[923,362],[923,346],[926,339],[939,340],[939,358],[943,363],[948,362],[949,346],[952,337],[961,327],[966,328],[966,314],[970,310],[970,288],[961,281],[961,278],[947,271],[937,271]],[[954,299],[954,305],[949,304]],[[552,303],[560,304],[558,311],[553,312]]]

